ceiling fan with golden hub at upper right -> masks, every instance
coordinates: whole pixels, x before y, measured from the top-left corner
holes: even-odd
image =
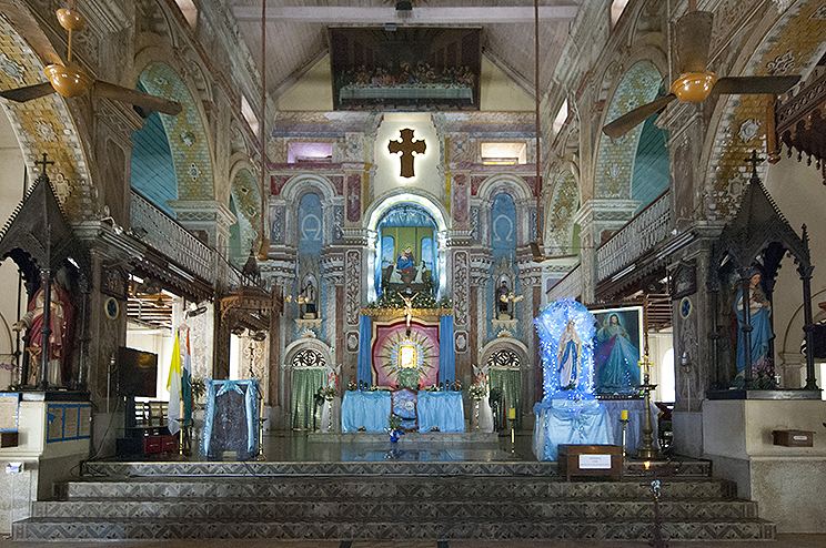
[[[727,95],[777,95],[800,80],[799,75],[717,78],[717,74],[707,68],[713,24],[714,13],[709,11],[689,11],[679,18],[677,21],[679,78],[672,83],[672,92],[623,114],[603,128],[603,133],[612,139],[618,139],[674,100],[698,103],[707,98],[712,90]]]

